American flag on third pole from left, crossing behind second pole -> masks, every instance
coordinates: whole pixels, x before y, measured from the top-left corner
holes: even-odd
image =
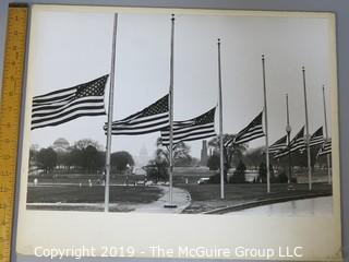
[[[213,108],[196,118],[186,121],[173,121],[173,144],[215,136],[215,111],[216,108]],[[161,144],[169,145],[169,143],[170,131],[167,127],[161,130]]]

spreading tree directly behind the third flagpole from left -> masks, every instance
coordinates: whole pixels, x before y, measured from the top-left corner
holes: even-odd
[[[225,143],[233,138],[234,134],[224,134],[222,141]],[[219,138],[216,136],[208,141],[208,146],[213,147],[215,152],[219,152]],[[229,146],[224,146],[224,176],[226,182],[228,181],[228,170],[231,168],[231,165],[238,166],[246,147],[245,144],[234,143],[231,143]]]

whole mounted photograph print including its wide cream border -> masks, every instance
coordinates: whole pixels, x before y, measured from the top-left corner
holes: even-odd
[[[332,13],[35,4],[17,253],[337,258],[335,45]]]

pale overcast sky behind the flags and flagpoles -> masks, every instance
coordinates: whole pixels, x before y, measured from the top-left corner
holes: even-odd
[[[119,13],[113,119],[143,109],[168,93],[170,13]],[[261,15],[258,13],[257,15]],[[110,72],[110,12],[33,12],[28,86],[33,95],[70,87]],[[306,68],[310,131],[324,123],[322,85],[330,121],[329,22],[322,17],[277,17],[176,13],[174,120],[193,118],[217,105],[217,38],[221,38],[224,132],[236,133],[263,109],[261,55],[266,56],[269,142],[285,134],[289,94],[292,136],[304,124],[301,67]],[[108,105],[106,88],[106,107]],[[49,146],[89,138],[105,145],[106,116],[84,117],[31,132],[32,144]],[[216,116],[218,119],[218,116]],[[218,131],[218,122],[216,121]],[[329,131],[330,132],[330,131]],[[113,136],[112,151],[155,151],[159,133]],[[263,145],[264,139],[250,143]],[[201,141],[190,142],[198,157]]]

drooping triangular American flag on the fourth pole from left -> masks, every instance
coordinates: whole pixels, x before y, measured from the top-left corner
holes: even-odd
[[[264,136],[262,124],[263,111],[256,116],[248,127],[242,129],[234,138],[228,140],[225,146],[229,146],[231,143],[242,144],[249,141]]]

